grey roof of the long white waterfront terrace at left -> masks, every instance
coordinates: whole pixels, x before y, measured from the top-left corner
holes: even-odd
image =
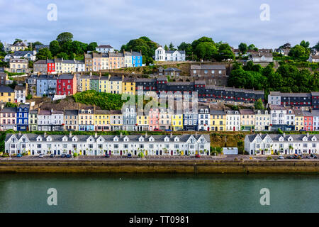
[[[65,136],[69,139],[70,138],[70,135],[38,135],[38,134],[33,134],[33,133],[26,133],[26,134],[12,134],[12,133],[8,133],[6,134],[6,139],[5,139],[5,142],[8,141],[12,135],[15,135],[16,138],[18,138],[18,140],[23,136],[25,135],[26,138],[28,138],[28,140],[30,140],[31,142],[32,141],[36,141],[36,139],[40,136],[42,137],[43,139],[46,139],[47,137],[51,137],[52,138],[52,141],[53,142],[59,142],[59,141],[62,141],[62,138],[64,138]],[[118,137],[119,141],[123,142],[124,141],[124,138],[128,138],[130,141],[133,141],[133,142],[138,142],[139,141],[139,138],[142,136],[142,138],[145,139],[145,142],[148,141],[148,139],[150,137],[154,138],[155,141],[162,141],[164,142],[164,138],[169,138],[170,141],[174,141],[174,138],[178,137],[179,138],[179,141],[180,142],[186,142],[187,140],[189,140],[189,138],[191,137],[191,135],[71,135],[72,138],[76,137],[78,139],[78,141],[80,142],[86,142],[86,140],[88,138],[93,138],[94,141],[98,140],[99,138],[103,138],[104,140],[108,141],[108,142],[113,142],[113,138],[115,137]],[[193,135],[194,138],[196,140],[198,140],[199,138],[201,138],[201,136],[203,136],[206,141],[208,141],[208,143],[210,143],[211,139],[209,137],[208,134],[198,134],[198,135]],[[72,140],[70,140],[72,141]]]

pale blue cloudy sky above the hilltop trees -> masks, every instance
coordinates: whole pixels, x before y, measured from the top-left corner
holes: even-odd
[[[47,9],[50,4],[56,13]],[[278,48],[301,40],[312,47],[319,41],[318,11],[318,0],[0,0],[0,40],[49,44],[67,31],[74,40],[118,50],[140,36],[175,47],[202,36],[235,48]]]

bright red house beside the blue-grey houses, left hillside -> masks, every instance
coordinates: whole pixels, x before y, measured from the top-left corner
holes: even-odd
[[[57,95],[73,95],[77,93],[77,77],[75,74],[62,74],[57,77]]]

